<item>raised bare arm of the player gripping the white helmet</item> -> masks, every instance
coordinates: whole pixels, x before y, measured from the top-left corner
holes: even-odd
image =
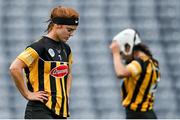
[[[124,78],[131,76],[131,72],[126,68],[126,66],[122,63],[121,55],[119,53],[118,44],[113,41],[110,45],[110,49],[113,55],[113,64],[116,76],[118,78]]]

